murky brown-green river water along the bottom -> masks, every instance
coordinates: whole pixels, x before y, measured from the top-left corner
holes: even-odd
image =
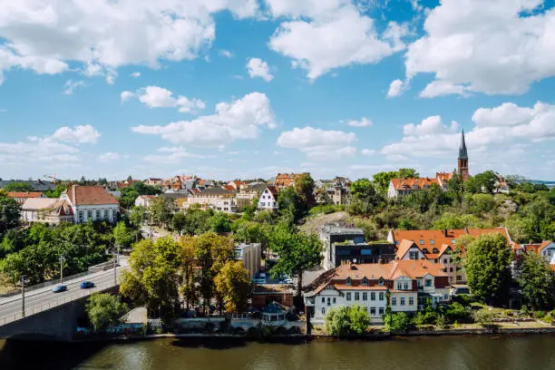
[[[261,344],[159,339],[109,346],[0,341],[0,369],[555,370],[555,336],[434,336]]]

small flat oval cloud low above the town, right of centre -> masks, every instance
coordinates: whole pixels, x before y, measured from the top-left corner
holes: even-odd
[[[351,145],[354,141],[353,132],[325,131],[307,126],[281,132],[277,145],[306,152],[310,160],[326,161],[354,156],[356,148]]]

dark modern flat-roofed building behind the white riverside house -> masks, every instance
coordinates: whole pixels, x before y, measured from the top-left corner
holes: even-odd
[[[395,247],[391,242],[366,242],[363,229],[351,225],[324,225],[320,231],[324,245],[324,268],[353,263],[385,263],[394,259]]]

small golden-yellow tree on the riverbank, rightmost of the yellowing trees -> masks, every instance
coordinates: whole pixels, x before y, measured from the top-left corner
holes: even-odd
[[[214,278],[214,283],[219,296],[223,297],[226,311],[246,310],[252,286],[242,261],[228,261]]]

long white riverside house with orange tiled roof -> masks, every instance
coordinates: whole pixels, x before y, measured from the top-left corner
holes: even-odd
[[[415,312],[450,299],[443,267],[427,260],[394,260],[386,264],[348,261],[324,272],[304,288],[305,305],[314,321],[323,321],[333,307],[365,307],[371,322],[383,322],[387,295],[392,312]]]

